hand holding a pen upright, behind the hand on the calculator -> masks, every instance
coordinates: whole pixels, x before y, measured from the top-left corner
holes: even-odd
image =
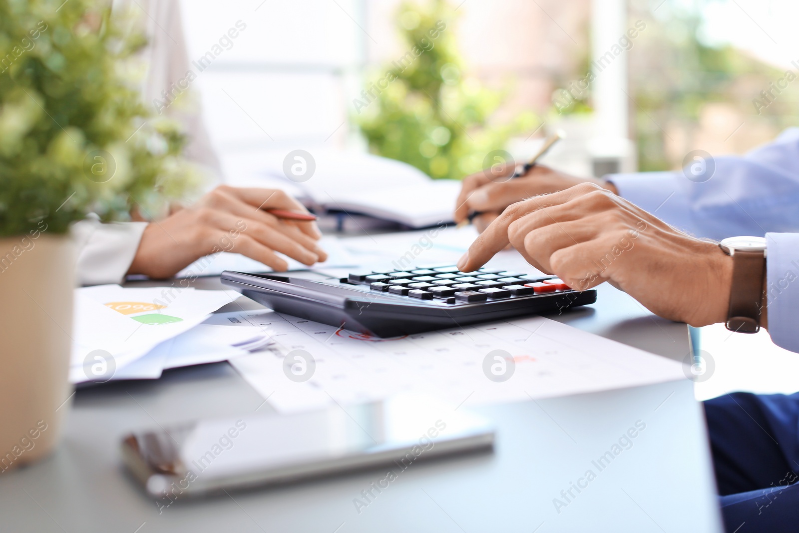
[[[472,211],[479,211],[483,214],[473,222],[482,232],[508,205],[539,194],[557,193],[580,183],[595,183],[612,193],[617,192],[608,181],[574,177],[542,165],[535,165],[526,176],[507,179],[513,171],[514,165],[495,165],[463,178],[455,202],[455,222],[463,221]]]

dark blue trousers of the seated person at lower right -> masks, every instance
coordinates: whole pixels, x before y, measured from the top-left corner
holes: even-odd
[[[799,531],[799,394],[705,402],[728,533]]]

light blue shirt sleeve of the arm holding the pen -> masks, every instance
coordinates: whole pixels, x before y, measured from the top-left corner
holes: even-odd
[[[745,156],[700,162],[706,174],[698,178],[689,166],[606,179],[620,196],[697,237],[799,232],[799,128]]]

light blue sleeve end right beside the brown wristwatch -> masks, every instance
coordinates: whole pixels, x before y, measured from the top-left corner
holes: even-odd
[[[777,346],[799,353],[799,233],[766,233],[765,238],[769,335]]]

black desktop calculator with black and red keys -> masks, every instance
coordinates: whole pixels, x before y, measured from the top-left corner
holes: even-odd
[[[277,312],[378,337],[401,336],[593,304],[553,276],[453,265],[407,270],[222,272],[223,284]]]

